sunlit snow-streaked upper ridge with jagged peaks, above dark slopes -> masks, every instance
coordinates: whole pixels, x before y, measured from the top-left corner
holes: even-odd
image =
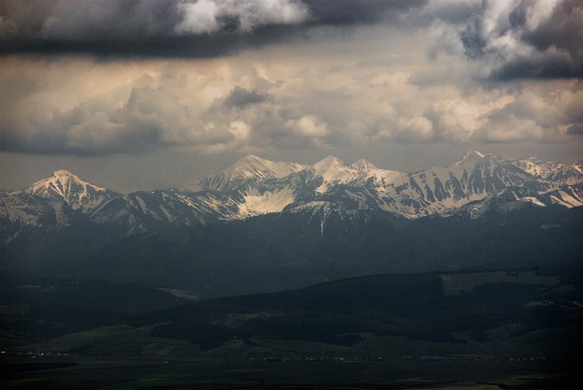
[[[49,220],[52,228],[67,226],[71,212],[122,236],[324,204],[405,219],[470,209],[478,217],[501,203],[581,206],[582,185],[581,162],[511,161],[479,151],[468,151],[449,166],[409,173],[379,169],[366,160],[349,165],[334,156],[305,165],[247,155],[195,184],[127,195],[60,170],[0,196],[0,239],[5,242],[23,226],[39,228]],[[59,202],[64,206],[57,207]]]

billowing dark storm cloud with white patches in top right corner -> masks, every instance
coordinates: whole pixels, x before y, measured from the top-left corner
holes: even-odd
[[[501,5],[507,6],[499,12]],[[492,80],[583,77],[583,1],[484,1],[460,32]]]

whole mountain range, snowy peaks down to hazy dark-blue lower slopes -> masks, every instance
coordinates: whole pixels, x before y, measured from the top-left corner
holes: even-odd
[[[0,267],[203,296],[276,291],[512,256],[577,258],[582,205],[583,162],[478,151],[409,173],[248,155],[193,184],[125,195],[59,170],[0,195]]]

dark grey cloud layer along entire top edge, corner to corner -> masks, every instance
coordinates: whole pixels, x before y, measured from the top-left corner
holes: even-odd
[[[503,12],[500,4],[505,3]],[[447,23],[488,80],[583,76],[583,2],[425,0],[0,1],[0,55],[211,58],[318,26]],[[551,4],[551,3],[549,3]],[[441,42],[451,54],[451,42]],[[439,43],[438,43],[439,45]],[[436,56],[436,50],[429,53]]]

